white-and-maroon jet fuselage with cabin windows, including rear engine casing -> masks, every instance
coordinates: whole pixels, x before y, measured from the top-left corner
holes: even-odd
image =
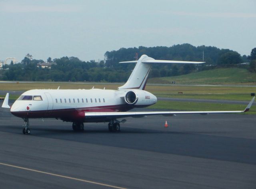
[[[135,92],[138,98],[134,104],[125,100],[129,91]],[[29,90],[21,97],[23,99],[17,99],[11,107],[13,115],[22,118],[54,117],[64,121],[84,120],[86,112],[128,111],[157,101],[155,95],[136,89]]]

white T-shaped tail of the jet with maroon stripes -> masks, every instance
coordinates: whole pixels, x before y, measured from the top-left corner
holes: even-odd
[[[140,89],[144,90],[148,74],[150,72],[153,63],[178,63],[178,64],[201,64],[204,62],[187,62],[187,61],[174,61],[174,60],[155,60],[154,58],[142,55],[139,60],[119,62],[119,63],[137,63],[132,74],[130,75],[127,82],[118,88],[120,89]]]

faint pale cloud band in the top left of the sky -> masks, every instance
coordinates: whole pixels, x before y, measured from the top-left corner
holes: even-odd
[[[27,13],[27,12],[78,12],[81,8],[73,5],[25,5],[25,4],[10,4],[0,3],[1,12],[10,13]]]

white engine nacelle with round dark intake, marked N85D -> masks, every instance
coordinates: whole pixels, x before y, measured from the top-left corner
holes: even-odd
[[[126,103],[133,106],[146,107],[157,102],[155,95],[144,90],[130,90],[124,96]]]

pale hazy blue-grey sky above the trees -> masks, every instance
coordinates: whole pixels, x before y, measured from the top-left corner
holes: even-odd
[[[0,60],[98,61],[122,47],[184,43],[250,55],[256,0],[0,0]]]

